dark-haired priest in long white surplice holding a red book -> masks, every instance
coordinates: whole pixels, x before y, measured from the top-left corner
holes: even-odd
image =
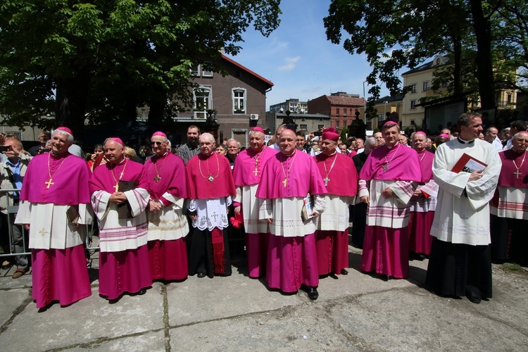
[[[482,132],[479,114],[460,115],[457,126],[459,137],[439,146],[434,156],[433,175],[439,194],[425,284],[436,294],[465,294],[479,303],[482,297],[491,297],[489,201],[497,186],[501,161],[495,147],[478,138]],[[453,172],[464,154],[486,167]]]

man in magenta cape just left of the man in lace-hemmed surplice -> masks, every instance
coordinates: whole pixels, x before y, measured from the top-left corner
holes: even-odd
[[[170,142],[163,132],[151,137],[154,156],[145,162],[149,180],[149,257],[152,279],[182,280],[189,274],[187,216],[183,214],[187,198],[187,172],[179,156],[170,153]]]

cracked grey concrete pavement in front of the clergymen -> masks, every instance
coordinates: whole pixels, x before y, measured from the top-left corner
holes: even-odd
[[[31,275],[0,271],[1,351],[526,351],[528,274],[494,265],[494,298],[480,304],[422,288],[427,260],[410,277],[384,282],[359,272],[320,280],[320,298],[283,295],[249,279],[244,260],[230,277],[156,282],[144,296],[110,304],[92,296],[39,313]]]

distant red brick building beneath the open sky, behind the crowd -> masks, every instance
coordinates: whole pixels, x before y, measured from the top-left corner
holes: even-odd
[[[322,113],[330,116],[330,125],[341,132],[343,127],[351,124],[356,118],[356,111],[364,114],[365,99],[358,94],[345,92],[322,95],[308,101],[308,113]]]

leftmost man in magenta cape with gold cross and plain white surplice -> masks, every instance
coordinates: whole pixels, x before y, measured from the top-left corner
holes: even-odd
[[[85,225],[92,223],[90,170],[68,152],[72,143],[71,130],[57,127],[51,151],[32,158],[20,191],[15,223],[30,231],[37,308],[53,301],[68,306],[92,294],[83,248]]]

